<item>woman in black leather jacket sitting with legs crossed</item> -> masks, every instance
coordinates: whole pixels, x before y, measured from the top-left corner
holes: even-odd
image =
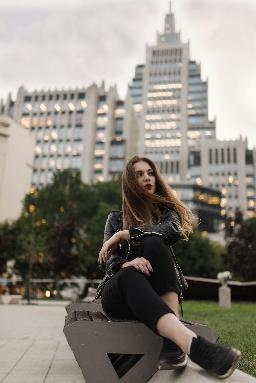
[[[178,305],[188,286],[172,245],[192,232],[192,212],[172,192],[146,157],[128,161],[122,177],[123,212],[112,211],[98,263],[106,277],[98,286],[105,313],[139,319],[163,337],[159,369],[183,368],[187,355],[226,378],[241,352],[197,336],[179,321]],[[181,308],[182,310],[182,308]]]

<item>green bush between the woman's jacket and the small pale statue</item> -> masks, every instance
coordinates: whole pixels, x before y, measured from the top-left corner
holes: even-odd
[[[225,270],[221,259],[224,247],[202,237],[198,229],[190,234],[189,241],[179,241],[173,248],[184,275],[217,278],[217,273]]]

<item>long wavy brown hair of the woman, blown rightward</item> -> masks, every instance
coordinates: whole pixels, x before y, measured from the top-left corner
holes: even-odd
[[[139,161],[148,162],[154,172],[156,191],[153,194],[144,190],[136,179],[133,165]],[[161,220],[159,207],[167,206],[179,214],[184,240],[188,240],[188,235],[193,232],[192,219],[194,214],[177,198],[153,160],[135,155],[127,162],[122,176],[122,193],[123,230],[127,230],[130,226],[135,228],[146,226],[149,219],[153,219],[153,216],[159,223]]]

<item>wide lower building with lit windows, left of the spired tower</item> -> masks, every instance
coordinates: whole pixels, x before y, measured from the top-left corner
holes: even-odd
[[[121,101],[116,87],[62,91],[18,91],[2,105],[30,129],[35,140],[31,187],[51,183],[56,169],[80,170],[86,183],[118,177],[137,152],[137,118],[129,95]]]

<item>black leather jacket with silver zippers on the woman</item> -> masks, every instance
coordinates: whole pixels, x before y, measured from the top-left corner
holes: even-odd
[[[140,242],[144,236],[161,236],[164,238],[170,246],[171,254],[174,260],[174,265],[176,268],[177,276],[180,282],[180,290],[181,294],[179,297],[180,304],[182,303],[182,291],[187,290],[189,287],[184,275],[177,264],[176,258],[174,256],[174,252],[172,250],[172,245],[179,241],[182,237],[182,229],[181,229],[181,220],[179,215],[175,210],[168,210],[167,208],[162,208],[161,211],[162,218],[161,222],[156,225],[143,226],[142,228],[129,228],[130,232],[130,241],[132,242]],[[115,211],[109,214],[105,230],[104,230],[104,239],[103,243],[107,242],[107,240],[112,237],[118,231],[123,229],[122,222],[122,211]],[[127,259],[130,252],[130,241],[121,240],[119,244],[119,248],[117,248],[111,255],[110,259],[107,260],[106,263],[103,262],[100,269],[106,273],[102,282],[98,285],[97,295],[95,296],[93,302],[100,297],[101,290],[105,286],[105,284],[110,280],[110,278],[119,270],[118,265],[124,262],[128,262]]]

